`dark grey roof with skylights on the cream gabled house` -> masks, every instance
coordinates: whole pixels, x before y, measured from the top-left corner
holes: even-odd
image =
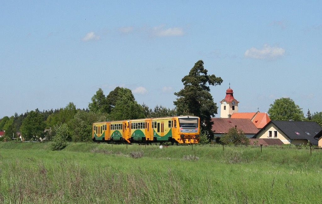
[[[321,126],[319,126],[316,122],[312,122],[312,121],[271,120],[267,125],[269,125],[270,123],[273,123],[277,128],[279,128],[290,139],[292,139],[292,140],[293,139],[307,139],[313,145],[317,145],[318,140],[314,137],[317,135],[318,132],[320,132],[322,130]],[[263,127],[260,130],[260,132],[263,129],[265,129],[266,126]],[[307,133],[309,133],[309,134],[307,134]],[[255,136],[257,136],[257,134]]]

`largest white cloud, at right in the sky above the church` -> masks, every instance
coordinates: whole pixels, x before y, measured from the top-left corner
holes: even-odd
[[[282,57],[285,54],[285,49],[278,47],[270,47],[265,44],[262,49],[251,48],[246,50],[245,57],[255,59],[269,59]]]

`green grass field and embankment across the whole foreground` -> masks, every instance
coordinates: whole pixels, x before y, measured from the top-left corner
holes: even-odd
[[[321,167],[309,148],[0,143],[0,201],[321,203]]]

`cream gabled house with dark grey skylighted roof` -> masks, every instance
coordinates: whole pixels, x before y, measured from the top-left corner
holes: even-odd
[[[271,120],[253,138],[279,138],[284,144],[311,144],[317,145],[314,138],[322,127],[312,121],[280,121]]]

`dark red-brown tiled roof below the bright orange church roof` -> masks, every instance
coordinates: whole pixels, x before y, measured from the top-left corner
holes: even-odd
[[[237,126],[245,134],[256,134],[258,129],[249,119],[241,118],[211,118],[213,133],[227,133],[229,129]]]

